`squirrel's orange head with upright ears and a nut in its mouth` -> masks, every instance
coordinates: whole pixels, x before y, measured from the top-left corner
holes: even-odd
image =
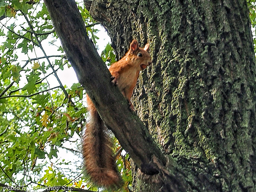
[[[135,67],[139,68],[139,70],[145,69],[152,63],[148,49],[149,44],[146,44],[144,48],[140,48],[137,40],[135,39],[133,39],[132,43],[130,44],[130,49],[127,56],[129,59],[131,59]]]

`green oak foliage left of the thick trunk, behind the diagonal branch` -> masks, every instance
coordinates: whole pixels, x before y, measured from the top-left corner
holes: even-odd
[[[80,6],[83,2],[77,4],[97,47],[98,23]],[[60,80],[59,73],[71,65],[43,1],[1,1],[0,25],[0,186],[98,190],[82,174],[77,147],[86,122],[85,92],[79,83],[68,87]],[[115,61],[109,44],[102,55]],[[126,182],[122,191],[128,191],[128,155],[121,155],[117,140],[115,150]]]

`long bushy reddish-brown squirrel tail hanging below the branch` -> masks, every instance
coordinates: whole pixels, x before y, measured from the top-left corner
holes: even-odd
[[[83,157],[87,174],[99,186],[120,186],[122,180],[117,172],[107,129],[92,101],[87,96],[90,121],[83,137]]]

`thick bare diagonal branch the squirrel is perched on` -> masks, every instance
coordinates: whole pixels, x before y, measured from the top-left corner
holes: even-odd
[[[164,155],[144,124],[129,110],[127,101],[118,88],[112,86],[106,65],[86,35],[86,28],[75,1],[44,2],[79,82],[122,147],[129,152],[139,168],[157,166],[152,160],[154,156],[160,164],[165,165]]]

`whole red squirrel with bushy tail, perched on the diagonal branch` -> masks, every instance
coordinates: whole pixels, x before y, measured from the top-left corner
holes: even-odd
[[[133,40],[130,49],[124,57],[109,67],[112,83],[117,85],[130,108],[131,96],[137,83],[140,70],[151,64],[148,53],[149,44],[142,49],[138,42]],[[111,142],[107,128],[104,126],[96,108],[87,95],[87,110],[90,112],[90,121],[86,124],[83,137],[83,156],[87,174],[99,186],[120,186],[122,179],[117,172],[115,158],[111,149]]]

